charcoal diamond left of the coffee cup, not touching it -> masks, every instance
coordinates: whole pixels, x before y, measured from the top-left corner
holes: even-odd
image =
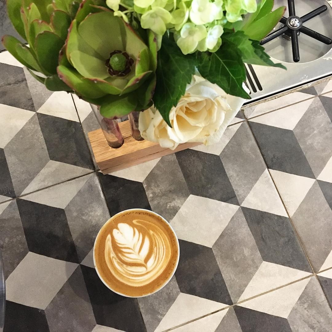
[[[29,250],[40,255],[79,263],[63,209],[17,199]]]

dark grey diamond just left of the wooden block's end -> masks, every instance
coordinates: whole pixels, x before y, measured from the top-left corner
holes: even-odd
[[[37,116],[51,160],[93,169],[80,123],[41,113]]]

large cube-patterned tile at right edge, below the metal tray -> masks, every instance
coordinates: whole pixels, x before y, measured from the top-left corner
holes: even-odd
[[[332,267],[331,104],[325,94],[249,120],[314,272]]]

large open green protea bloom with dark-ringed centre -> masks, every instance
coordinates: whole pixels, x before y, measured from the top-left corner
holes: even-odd
[[[148,108],[156,82],[156,37],[149,32],[144,42],[106,8],[87,14],[71,23],[58,76],[78,96],[100,105],[104,117]]]

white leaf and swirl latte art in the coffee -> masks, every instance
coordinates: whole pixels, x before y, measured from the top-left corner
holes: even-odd
[[[155,280],[170,260],[170,242],[153,223],[134,219],[118,223],[105,243],[105,260],[112,274],[139,287]]]

